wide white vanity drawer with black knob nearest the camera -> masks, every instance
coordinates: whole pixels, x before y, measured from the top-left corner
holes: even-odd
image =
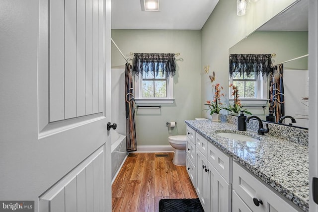
[[[292,202],[240,166],[237,161],[233,163],[233,190],[253,212],[301,211]],[[263,204],[256,206],[253,198],[261,200]]]

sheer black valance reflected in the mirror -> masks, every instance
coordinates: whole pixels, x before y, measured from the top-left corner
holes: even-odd
[[[230,76],[236,76],[238,73],[245,73],[249,76],[252,72],[256,72],[258,75],[260,72],[264,76],[268,76],[270,72],[273,72],[271,68],[272,56],[268,55],[239,55],[231,54],[230,55]]]

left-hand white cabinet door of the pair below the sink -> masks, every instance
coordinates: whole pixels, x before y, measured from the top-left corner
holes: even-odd
[[[207,210],[209,199],[207,198],[207,172],[205,172],[205,168],[207,167],[207,158],[204,157],[204,155],[196,149],[195,151],[195,161],[196,161],[196,176],[195,176],[195,190],[197,192],[197,195],[200,199],[201,205],[204,209],[204,211]]]

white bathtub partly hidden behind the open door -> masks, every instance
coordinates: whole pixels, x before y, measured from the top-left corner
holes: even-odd
[[[126,136],[111,131],[111,179],[114,182],[128,153],[126,151]]]

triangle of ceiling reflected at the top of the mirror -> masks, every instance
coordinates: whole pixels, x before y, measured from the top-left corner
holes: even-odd
[[[259,29],[260,31],[308,31],[308,0],[297,1]]]

